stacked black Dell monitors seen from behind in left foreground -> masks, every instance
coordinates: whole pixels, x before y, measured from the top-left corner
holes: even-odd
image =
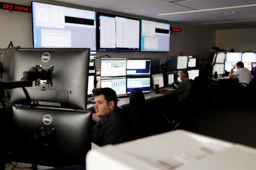
[[[47,166],[85,164],[91,149],[91,112],[85,111],[90,49],[13,47],[0,51],[9,57],[2,61],[3,80],[26,83],[20,86],[24,91],[10,90],[9,101],[16,105],[3,109],[4,115],[8,113],[2,122],[8,135],[2,139],[8,146],[1,147],[11,153],[10,160]]]

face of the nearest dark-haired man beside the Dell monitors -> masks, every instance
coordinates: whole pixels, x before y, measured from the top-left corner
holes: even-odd
[[[112,108],[114,107],[113,101],[111,101],[111,102],[109,102],[109,104],[107,104],[107,100],[105,100],[104,95],[96,96],[94,101],[96,102],[94,105],[94,108],[96,111],[96,116],[98,116],[100,118],[107,116],[112,111]]]

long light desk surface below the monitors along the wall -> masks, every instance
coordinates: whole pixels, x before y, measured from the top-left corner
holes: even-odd
[[[171,87],[165,87],[167,90],[174,90],[173,88]],[[158,98],[162,98],[164,97],[163,94],[159,93],[159,94],[155,94],[155,91],[150,89],[150,93],[146,93],[144,94],[144,97],[145,97],[145,100],[146,101],[150,101],[150,100],[155,100],[155,99],[158,99]],[[117,103],[118,107],[126,107],[129,105],[129,96],[125,96],[125,97],[120,97],[118,98],[119,101]],[[93,97],[89,97],[87,100],[93,100]],[[87,104],[87,109],[91,111],[91,109],[93,109],[95,104],[91,103],[91,104]]]

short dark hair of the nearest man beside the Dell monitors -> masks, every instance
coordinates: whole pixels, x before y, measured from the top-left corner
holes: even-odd
[[[117,93],[115,90],[109,87],[100,88],[99,90],[95,91],[94,97],[99,95],[104,95],[105,100],[107,100],[107,104],[109,104],[111,101],[114,101],[115,106],[117,106]]]

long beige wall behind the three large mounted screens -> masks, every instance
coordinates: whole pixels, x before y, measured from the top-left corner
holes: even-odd
[[[5,0],[6,1],[6,0]],[[31,6],[30,0],[8,0],[9,3],[22,4]],[[95,10],[97,12],[107,12],[98,9],[67,5],[60,2],[40,0],[39,2],[53,3],[56,5],[78,7],[83,9]],[[107,12],[110,13],[110,12]],[[119,14],[123,15],[123,14]],[[129,16],[129,15],[124,15]],[[130,16],[139,19],[155,20],[141,16]],[[0,48],[8,46],[13,41],[14,46],[33,47],[32,40],[32,19],[31,13],[16,12],[8,13],[7,10],[0,9],[1,21],[1,39]],[[170,22],[169,22],[170,23]],[[180,52],[183,55],[199,55],[200,58],[207,58],[211,53],[211,48],[215,46],[216,32],[198,27],[190,27],[175,23],[170,23],[171,27],[178,27],[182,32],[171,32],[170,35],[170,52],[97,52],[97,56],[108,54],[112,58],[160,58],[160,63],[165,63],[167,56],[178,56]],[[99,61],[96,62],[97,68],[100,67]]]

